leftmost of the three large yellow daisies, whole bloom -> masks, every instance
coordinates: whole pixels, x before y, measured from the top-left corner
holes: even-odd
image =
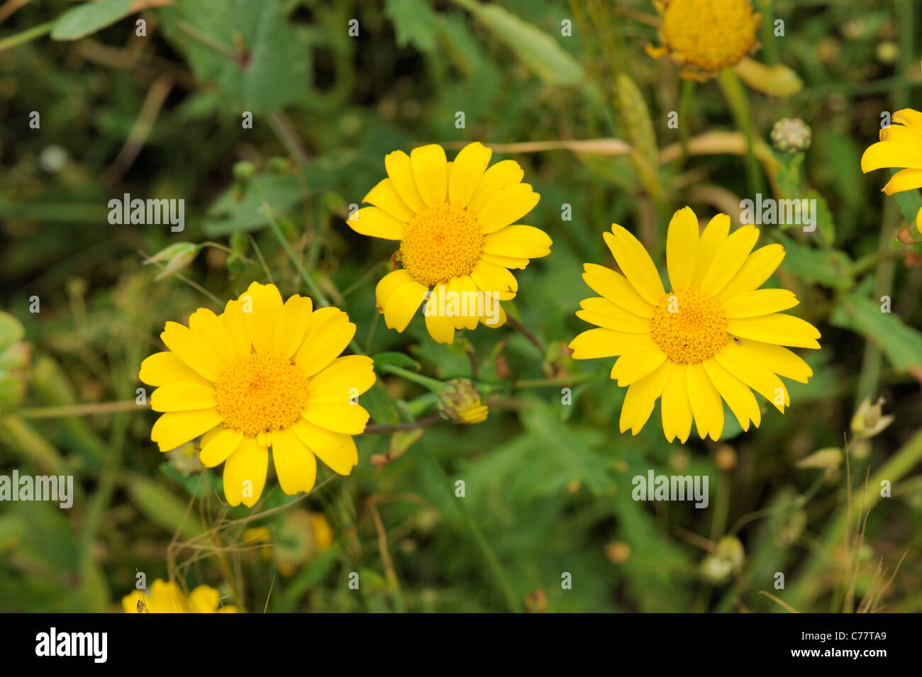
[[[359,462],[352,435],[368,423],[354,398],[374,383],[372,359],[339,356],[355,334],[336,308],[310,298],[284,303],[275,285],[254,282],[224,312],[197,309],[189,326],[167,322],[169,348],[141,364],[163,412],[150,431],[160,451],[201,440],[207,468],[224,463],[224,496],[252,507],[263,493],[272,448],[286,494],[310,491],[315,455],[339,474]]]

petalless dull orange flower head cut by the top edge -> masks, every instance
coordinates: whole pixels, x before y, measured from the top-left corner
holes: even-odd
[[[749,53],[758,25],[750,0],[668,0],[662,37],[678,64],[713,73]]]

